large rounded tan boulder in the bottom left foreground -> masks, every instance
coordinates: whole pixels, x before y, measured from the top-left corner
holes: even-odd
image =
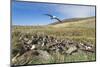
[[[12,61],[12,63],[14,65],[25,65],[25,64],[29,64],[29,62],[34,61],[34,60],[39,61],[41,63],[42,62],[48,63],[50,59],[51,59],[51,55],[49,55],[47,51],[30,50],[30,51],[25,52],[23,55],[19,56],[18,58],[16,58],[16,60]]]

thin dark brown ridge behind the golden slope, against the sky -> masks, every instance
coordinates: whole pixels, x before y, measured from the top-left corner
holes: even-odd
[[[94,19],[94,18],[95,18],[95,16],[86,17],[86,18],[70,18],[70,19],[64,19],[64,20],[62,20],[62,23],[77,22],[77,21]],[[51,23],[49,25],[56,25],[56,24],[61,24],[61,22],[54,22],[54,23]]]

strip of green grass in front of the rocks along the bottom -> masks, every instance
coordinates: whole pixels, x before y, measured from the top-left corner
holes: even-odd
[[[65,62],[84,62],[95,61],[95,53],[77,53],[74,55],[62,55],[60,53],[52,54],[52,57],[48,61],[40,61],[39,59],[33,60],[30,64],[45,64],[45,63],[65,63]]]

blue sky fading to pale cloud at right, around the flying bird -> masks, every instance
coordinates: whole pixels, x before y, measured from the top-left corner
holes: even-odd
[[[46,25],[51,20],[44,14],[52,14],[62,19],[95,16],[94,6],[62,5],[47,3],[12,2],[12,24]]]

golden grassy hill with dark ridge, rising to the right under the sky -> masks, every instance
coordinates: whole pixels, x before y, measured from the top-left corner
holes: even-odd
[[[95,28],[95,17],[87,17],[87,18],[71,18],[64,19],[61,22],[55,22],[50,24],[52,27],[67,27],[67,28]]]

